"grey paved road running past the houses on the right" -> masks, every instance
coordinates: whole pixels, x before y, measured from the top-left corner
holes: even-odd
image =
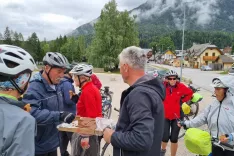
[[[180,75],[180,68],[172,67],[168,65],[159,65],[159,64],[150,64],[152,66],[159,66],[168,69],[175,70]],[[209,92],[213,92],[213,88],[210,86],[213,78],[221,76],[218,74],[219,71],[201,71],[200,69],[191,69],[191,68],[184,68],[182,70],[182,76],[188,79],[191,79],[193,84],[201,87]]]

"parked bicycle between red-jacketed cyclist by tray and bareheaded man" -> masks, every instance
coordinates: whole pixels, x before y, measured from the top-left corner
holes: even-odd
[[[113,92],[109,90],[108,86],[105,86],[104,90],[101,89],[100,92],[102,96],[102,115],[104,118],[109,119],[112,112],[111,102],[112,102]]]

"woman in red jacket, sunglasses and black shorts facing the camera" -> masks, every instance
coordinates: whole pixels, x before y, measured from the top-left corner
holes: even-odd
[[[181,103],[189,101],[193,91],[178,81],[178,74],[174,70],[169,70],[166,73],[164,86],[166,88],[166,98],[163,102],[165,122],[161,156],[166,153],[169,139],[171,141],[171,156],[175,156],[180,132],[180,128],[177,126],[177,118],[183,118]]]

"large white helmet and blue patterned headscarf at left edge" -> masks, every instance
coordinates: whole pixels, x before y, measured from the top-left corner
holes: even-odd
[[[12,45],[0,45],[0,88],[17,89],[23,94],[31,73],[37,69],[34,59],[24,49]],[[21,87],[24,86],[22,89]]]

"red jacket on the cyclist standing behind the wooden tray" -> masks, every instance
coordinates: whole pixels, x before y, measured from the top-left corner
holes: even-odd
[[[102,117],[102,98],[100,91],[90,81],[81,88],[81,95],[76,105],[77,115],[81,117]]]

